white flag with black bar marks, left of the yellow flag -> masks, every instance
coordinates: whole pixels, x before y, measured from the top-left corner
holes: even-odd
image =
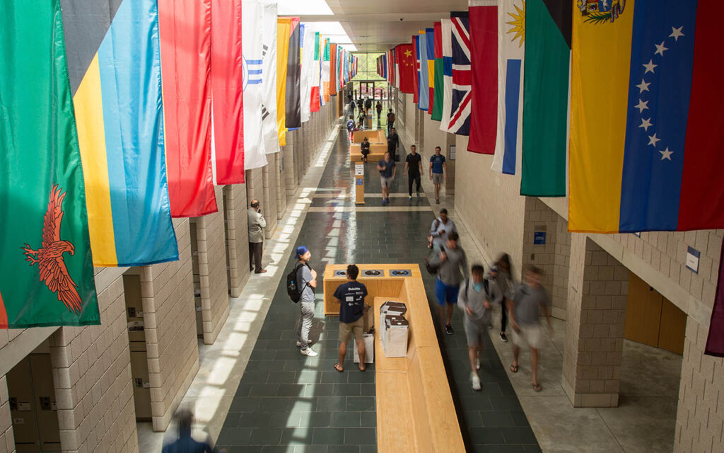
[[[261,136],[266,154],[279,152],[277,130],[277,1],[264,0],[261,44]],[[286,76],[285,76],[286,79]]]

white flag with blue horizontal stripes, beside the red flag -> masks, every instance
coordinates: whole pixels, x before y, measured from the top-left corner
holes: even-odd
[[[261,68],[264,63],[261,36],[264,36],[264,4],[263,0],[243,0],[241,6],[244,51],[244,169],[253,170],[268,163],[261,135]]]

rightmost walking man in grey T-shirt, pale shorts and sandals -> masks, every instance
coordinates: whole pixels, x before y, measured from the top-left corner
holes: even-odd
[[[550,299],[541,284],[542,278],[543,273],[538,267],[529,267],[525,273],[525,283],[515,290],[513,300],[508,300],[508,316],[510,327],[513,328],[513,364],[510,365],[510,371],[518,373],[521,348],[529,347],[535,391],[541,391],[538,383],[538,359],[544,334],[540,323],[541,310],[548,326],[553,328],[550,323]]]

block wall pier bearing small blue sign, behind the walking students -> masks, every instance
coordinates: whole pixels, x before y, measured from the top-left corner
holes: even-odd
[[[568,233],[568,223],[540,199],[530,196],[526,196],[525,199],[523,266],[535,265],[544,271],[543,284],[551,297],[552,315],[565,320],[571,256],[571,233]],[[534,244],[534,233],[539,230],[546,233],[544,245]]]

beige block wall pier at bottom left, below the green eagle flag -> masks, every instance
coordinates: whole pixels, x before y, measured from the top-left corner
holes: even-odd
[[[50,337],[63,452],[138,452],[123,278],[98,291],[101,325]]]

